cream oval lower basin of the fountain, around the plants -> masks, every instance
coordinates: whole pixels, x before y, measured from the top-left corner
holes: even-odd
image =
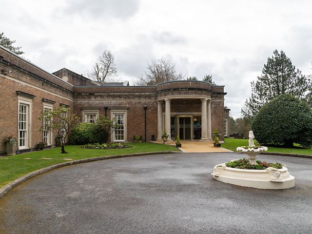
[[[294,177],[286,166],[282,169],[269,167],[266,170],[236,169],[218,164],[212,173],[216,180],[224,183],[257,189],[288,189],[294,187]]]

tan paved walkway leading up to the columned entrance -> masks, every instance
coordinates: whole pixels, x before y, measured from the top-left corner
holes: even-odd
[[[153,143],[163,144],[162,141],[151,141]],[[198,140],[181,140],[181,150],[185,153],[223,153],[232,152],[221,147],[215,147],[213,141],[200,142]],[[168,142],[168,145],[176,145],[176,141]]]

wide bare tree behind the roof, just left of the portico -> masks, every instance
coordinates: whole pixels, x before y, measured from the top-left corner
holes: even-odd
[[[138,77],[136,85],[156,85],[161,82],[175,81],[183,76],[176,72],[176,64],[170,59],[157,59],[147,63],[145,74]]]

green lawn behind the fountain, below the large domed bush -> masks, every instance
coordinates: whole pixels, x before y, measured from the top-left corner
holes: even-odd
[[[256,141],[254,141],[255,144]],[[236,152],[236,148],[239,146],[248,146],[248,139],[234,139],[234,138],[225,138],[225,143],[222,144],[222,147],[228,150]],[[298,155],[312,155],[312,148],[305,149],[299,145],[294,145],[293,148],[282,148],[277,146],[268,146],[267,152],[274,153],[287,153],[287,154],[298,154]]]

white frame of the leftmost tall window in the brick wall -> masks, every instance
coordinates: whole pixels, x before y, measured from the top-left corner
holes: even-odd
[[[19,150],[31,148],[31,132],[32,132],[32,99],[24,96],[18,96],[18,148]],[[26,105],[26,135],[25,145],[20,146],[20,105]]]

